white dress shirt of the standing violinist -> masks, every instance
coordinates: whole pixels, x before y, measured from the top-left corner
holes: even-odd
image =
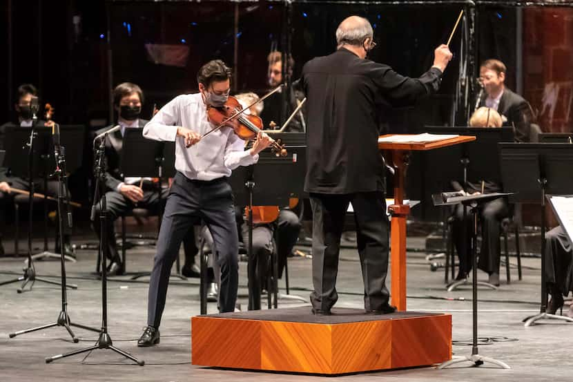
[[[232,128],[213,131],[191,147],[185,147],[183,137],[177,136],[177,126],[203,135],[211,131],[206,106],[201,93],[179,95],[162,107],[145,125],[143,135],[159,141],[175,141],[175,169],[194,180],[229,177],[238,166],[255,164],[259,155],[244,150],[244,141]]]

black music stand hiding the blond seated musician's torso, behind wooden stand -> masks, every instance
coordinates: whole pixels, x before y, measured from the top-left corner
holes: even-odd
[[[426,126],[426,130],[432,134],[472,135],[476,137],[476,140],[472,142],[444,147],[435,153],[432,151],[427,153],[428,167],[440,169],[436,174],[434,184],[430,187],[431,192],[443,190],[447,183],[456,178],[463,179],[462,187],[464,190],[467,190],[469,180],[490,180],[498,184],[501,183],[497,144],[499,142],[514,142],[513,128]],[[460,166],[456,168],[451,166],[451,163],[460,163]],[[463,233],[465,234],[465,230]],[[467,240],[464,238],[463,242],[465,245]],[[454,262],[455,260],[451,264],[452,278],[454,278]],[[448,292],[451,292],[461,285],[467,285],[467,278],[454,280],[447,284],[446,288]],[[478,281],[478,285],[497,289],[495,285],[486,281]]]

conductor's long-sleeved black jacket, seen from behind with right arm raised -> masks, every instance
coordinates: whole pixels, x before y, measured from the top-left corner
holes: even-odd
[[[378,151],[380,107],[413,104],[434,93],[441,75],[431,68],[418,79],[403,77],[344,48],[307,62],[300,79],[307,96],[304,191],[385,191],[385,165]]]

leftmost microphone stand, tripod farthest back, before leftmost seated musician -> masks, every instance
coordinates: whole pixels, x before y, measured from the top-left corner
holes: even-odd
[[[22,285],[17,289],[18,293],[24,292],[24,288],[28,283],[30,283],[30,289],[34,286],[36,281],[41,281],[43,283],[52,284],[52,285],[61,285],[61,283],[57,283],[56,281],[48,280],[46,278],[38,277],[36,274],[36,269],[34,267],[33,257],[32,257],[32,228],[33,228],[33,218],[34,218],[34,139],[37,135],[35,128],[38,122],[38,117],[36,116],[37,113],[37,104],[36,107],[32,106],[32,130],[30,131],[30,141],[26,144],[28,146],[28,188],[30,189],[30,194],[28,196],[28,260],[26,260],[26,268],[23,269],[23,275],[19,278],[14,278],[12,280],[4,281],[0,283],[1,285],[12,284],[12,283],[19,283],[23,281]],[[72,289],[77,289],[76,285],[68,285],[68,287]],[[12,335],[10,335],[12,336]]]

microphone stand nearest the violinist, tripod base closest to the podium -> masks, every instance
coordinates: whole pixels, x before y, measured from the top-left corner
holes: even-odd
[[[139,361],[131,354],[118,349],[113,345],[111,337],[108,334],[108,300],[107,300],[107,264],[106,264],[106,254],[104,253],[105,248],[107,248],[107,236],[104,234],[107,222],[107,206],[106,206],[106,193],[104,190],[104,184],[106,182],[106,169],[105,169],[105,152],[106,152],[106,137],[101,138],[99,141],[99,146],[97,153],[95,154],[96,165],[95,165],[95,195],[94,195],[94,205],[92,207],[92,220],[95,220],[95,205],[98,202],[99,194],[101,193],[101,212],[99,214],[99,224],[101,227],[102,234],[99,236],[99,258],[101,258],[101,330],[99,330],[99,338],[97,339],[95,345],[86,347],[80,350],[74,350],[65,354],[58,354],[56,356],[51,356],[46,358],[46,363],[50,363],[57,359],[62,359],[68,356],[73,356],[75,354],[81,354],[85,352],[91,352],[96,349],[110,349],[116,353],[122,354],[122,356],[134,361],[139,366],[145,365],[143,360]],[[97,139],[96,139],[97,140]],[[94,145],[96,140],[94,140]],[[63,260],[62,260],[63,261]]]

